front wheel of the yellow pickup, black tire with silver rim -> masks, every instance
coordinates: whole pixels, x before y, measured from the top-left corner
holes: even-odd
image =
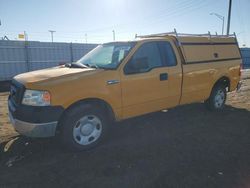
[[[108,132],[106,113],[91,104],[70,109],[61,123],[60,139],[71,151],[84,151],[101,143]]]

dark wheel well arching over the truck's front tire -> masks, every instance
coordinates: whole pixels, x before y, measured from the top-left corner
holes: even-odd
[[[115,121],[115,119],[116,119],[112,107],[106,101],[104,101],[102,99],[97,99],[97,98],[83,99],[83,100],[80,100],[80,101],[77,101],[77,102],[71,104],[68,108],[66,108],[64,110],[64,112],[62,113],[62,115],[59,118],[57,131],[60,130],[61,122],[64,120],[66,113],[68,111],[70,111],[72,108],[76,107],[77,105],[81,105],[81,104],[88,104],[88,105],[93,105],[95,107],[101,108],[104,112],[107,113],[107,115],[111,121]]]

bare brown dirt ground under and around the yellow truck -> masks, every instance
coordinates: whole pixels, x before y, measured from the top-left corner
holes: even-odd
[[[185,105],[116,124],[101,146],[69,153],[18,136],[0,95],[0,187],[250,186],[250,79],[224,111]]]

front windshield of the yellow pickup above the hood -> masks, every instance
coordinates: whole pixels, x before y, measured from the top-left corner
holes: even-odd
[[[116,69],[134,45],[135,42],[101,44],[83,56],[76,63],[81,63],[88,67]]]

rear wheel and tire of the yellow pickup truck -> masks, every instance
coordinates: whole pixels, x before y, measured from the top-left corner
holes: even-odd
[[[207,108],[211,111],[220,111],[224,108],[227,98],[226,87],[222,84],[216,85],[210,97],[205,101]]]

